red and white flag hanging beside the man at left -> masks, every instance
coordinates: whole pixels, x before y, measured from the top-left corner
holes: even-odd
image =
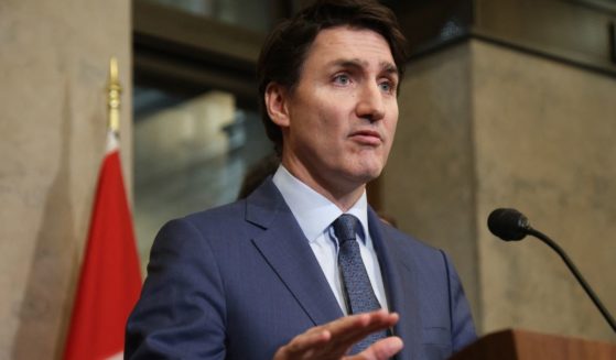
[[[116,135],[109,131],[64,359],[121,359],[141,270]]]

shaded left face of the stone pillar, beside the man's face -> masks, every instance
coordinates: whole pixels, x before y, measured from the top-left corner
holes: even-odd
[[[453,258],[478,319],[469,81],[467,44],[408,65],[380,185],[383,211]]]

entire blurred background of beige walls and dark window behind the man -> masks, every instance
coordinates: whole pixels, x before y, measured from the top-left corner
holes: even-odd
[[[144,268],[165,220],[233,200],[271,151],[253,66],[266,32],[307,2],[0,3],[0,359],[62,354],[105,152],[109,57]],[[413,57],[372,205],[452,254],[480,334],[614,342],[554,253],[498,241],[485,223],[496,207],[522,210],[616,312],[616,6],[383,3]]]

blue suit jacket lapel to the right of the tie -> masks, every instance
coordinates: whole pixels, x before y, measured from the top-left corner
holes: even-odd
[[[368,223],[372,243],[377,252],[381,269],[383,285],[387,292],[389,310],[400,315],[400,320],[393,327],[393,334],[402,338],[404,348],[397,359],[419,359],[421,353],[421,317],[419,314],[419,298],[415,273],[412,271],[412,259],[404,258],[398,242],[389,236],[381,220],[370,208]]]

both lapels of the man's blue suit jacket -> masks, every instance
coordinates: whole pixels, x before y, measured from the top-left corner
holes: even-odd
[[[314,325],[323,325],[344,316],[332,288],[309,246],[298,221],[282,195],[267,179],[247,199],[246,220],[263,231],[252,239],[255,247],[293,294]],[[370,236],[377,251],[389,309],[400,315],[393,334],[402,338],[404,348],[397,359],[421,356],[421,317],[415,264],[380,220],[368,210]]]

